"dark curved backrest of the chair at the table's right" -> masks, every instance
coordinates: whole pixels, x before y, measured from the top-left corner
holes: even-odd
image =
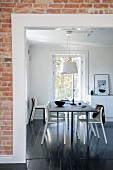
[[[98,111],[98,113],[93,113],[93,118],[101,121],[104,124],[105,123],[104,106],[96,105],[96,110]]]

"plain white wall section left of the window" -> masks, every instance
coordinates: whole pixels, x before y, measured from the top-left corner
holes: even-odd
[[[30,96],[36,96],[39,104],[46,104],[49,99],[49,49],[32,48],[30,56]]]

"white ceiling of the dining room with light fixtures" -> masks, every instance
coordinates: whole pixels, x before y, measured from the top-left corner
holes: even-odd
[[[29,45],[113,46],[113,28],[28,28],[26,40]]]

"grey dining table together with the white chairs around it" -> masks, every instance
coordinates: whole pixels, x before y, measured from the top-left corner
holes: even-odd
[[[34,97],[32,99],[32,111],[30,116],[30,121],[33,121],[33,116],[35,113],[35,109],[43,109],[43,120],[45,122],[44,131],[42,135],[41,145],[44,143],[45,135],[47,133],[47,128],[49,124],[56,123],[57,127],[57,147],[59,147],[59,124],[63,123],[63,131],[64,131],[64,144],[66,144],[66,115],[71,114],[71,144],[73,144],[73,129],[75,128],[75,115],[77,116],[76,122],[76,133],[79,139],[79,126],[80,122],[84,124],[84,144],[86,143],[87,149],[89,149],[90,145],[90,130],[94,132],[94,135],[100,138],[98,132],[97,124],[101,124],[105,143],[107,144],[106,133],[104,129],[102,116],[104,114],[104,106],[97,105],[95,108],[83,101],[75,101],[74,104],[71,104],[69,101],[53,101],[48,102],[46,105],[42,105],[38,107],[37,99]],[[68,117],[69,118],[69,117]],[[93,126],[95,125],[95,128]]]

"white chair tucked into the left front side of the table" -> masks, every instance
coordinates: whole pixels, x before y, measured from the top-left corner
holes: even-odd
[[[45,123],[45,127],[44,127],[44,132],[42,135],[42,140],[41,140],[41,145],[43,144],[45,135],[46,135],[46,131],[47,131],[47,127],[49,124],[53,124],[53,123],[57,123],[57,115],[55,113],[50,113],[49,112],[49,107],[50,107],[50,103],[47,104],[46,108],[45,108],[45,112],[47,115],[47,119],[46,119],[46,123]],[[65,114],[60,114],[59,117],[59,123],[63,123],[64,126],[64,144],[66,144],[66,121],[65,121]]]

